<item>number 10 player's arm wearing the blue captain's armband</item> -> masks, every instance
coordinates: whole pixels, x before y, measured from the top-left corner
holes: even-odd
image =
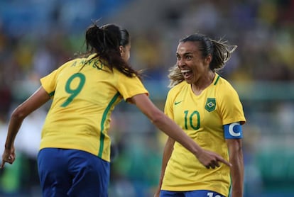
[[[229,162],[232,164],[232,197],[243,196],[244,158],[240,123],[224,125],[224,137],[229,149]]]

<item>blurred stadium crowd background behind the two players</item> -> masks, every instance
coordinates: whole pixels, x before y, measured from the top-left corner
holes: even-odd
[[[85,50],[92,20],[129,30],[131,64],[144,69],[143,82],[161,109],[178,40],[200,32],[238,45],[220,74],[239,92],[246,113],[244,196],[294,196],[293,13],[291,0],[1,0],[0,152],[13,108],[40,77]],[[41,196],[36,154],[49,104],[24,121],[17,160],[0,171],[0,196]],[[165,136],[126,103],[113,114],[111,136],[109,196],[153,196]]]

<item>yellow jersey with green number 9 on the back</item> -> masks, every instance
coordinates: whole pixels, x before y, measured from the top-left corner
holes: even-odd
[[[126,77],[116,69],[111,72],[91,57],[67,62],[40,79],[53,97],[40,149],[83,150],[109,162],[111,111],[122,99],[148,91],[137,77]]]

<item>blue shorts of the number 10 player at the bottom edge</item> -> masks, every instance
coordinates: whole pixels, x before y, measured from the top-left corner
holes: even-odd
[[[194,190],[194,191],[160,191],[160,197],[224,197],[214,191]]]

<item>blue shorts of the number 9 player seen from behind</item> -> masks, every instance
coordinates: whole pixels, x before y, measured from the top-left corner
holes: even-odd
[[[45,148],[38,153],[43,197],[107,197],[109,162],[80,150]]]

